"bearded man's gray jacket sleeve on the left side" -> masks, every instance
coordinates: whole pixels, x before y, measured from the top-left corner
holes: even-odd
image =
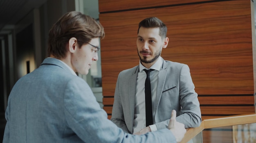
[[[113,108],[112,108],[112,117],[111,117],[111,121],[113,123],[115,123],[119,128],[123,129],[124,132],[126,133],[130,133],[126,123],[124,121],[124,111],[123,111],[123,106],[121,103],[121,98],[120,98],[120,92],[119,92],[119,78],[120,74],[118,75],[117,78],[117,84],[116,84],[116,88],[115,88],[115,96],[114,96],[114,104],[113,104]]]

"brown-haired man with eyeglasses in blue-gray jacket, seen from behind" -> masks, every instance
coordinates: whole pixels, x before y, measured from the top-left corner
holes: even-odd
[[[107,118],[89,85],[103,27],[80,12],[63,15],[49,31],[49,58],[14,85],[8,99],[3,143],[175,143],[184,136],[176,112],[168,129],[127,134]]]

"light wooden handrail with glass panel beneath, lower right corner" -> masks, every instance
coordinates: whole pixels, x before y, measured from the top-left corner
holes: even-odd
[[[204,119],[199,127],[187,128],[180,143],[191,140],[193,143],[256,143],[256,114]]]

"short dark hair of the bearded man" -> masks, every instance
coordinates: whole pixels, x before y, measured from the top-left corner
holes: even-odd
[[[167,34],[167,27],[162,22],[162,20],[159,20],[157,17],[148,17],[141,22],[139,22],[139,28],[140,27],[145,27],[145,28],[159,28],[159,35],[162,37],[162,39],[166,38]],[[139,33],[139,28],[138,32]]]

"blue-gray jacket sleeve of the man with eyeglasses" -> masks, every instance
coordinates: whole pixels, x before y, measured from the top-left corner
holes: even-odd
[[[140,136],[125,133],[107,119],[83,79],[68,82],[63,96],[67,126],[86,143],[176,143],[168,129]]]

